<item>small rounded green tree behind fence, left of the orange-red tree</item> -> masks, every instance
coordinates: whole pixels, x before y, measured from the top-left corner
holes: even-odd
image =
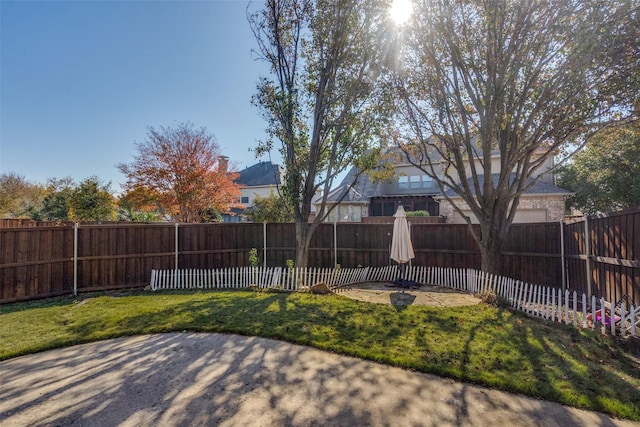
[[[69,199],[69,219],[72,221],[113,221],[116,219],[111,183],[97,176],[83,180]]]

